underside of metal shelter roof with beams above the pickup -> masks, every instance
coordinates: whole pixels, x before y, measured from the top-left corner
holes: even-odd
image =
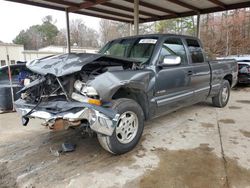
[[[133,22],[134,0],[8,0],[12,2]],[[250,7],[250,0],[140,0],[140,23]]]

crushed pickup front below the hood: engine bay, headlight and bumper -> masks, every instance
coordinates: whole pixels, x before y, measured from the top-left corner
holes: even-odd
[[[107,69],[94,63],[67,75],[45,73],[27,78],[28,84],[20,91],[21,98],[15,101],[23,125],[27,125],[30,118],[38,118],[53,129],[58,121],[63,121],[64,128],[87,124],[94,132],[111,136],[119,114],[87,84]]]

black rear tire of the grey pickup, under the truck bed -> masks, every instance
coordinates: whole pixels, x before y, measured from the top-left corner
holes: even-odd
[[[230,97],[230,84],[228,80],[223,80],[222,86],[220,88],[220,91],[217,96],[212,98],[213,105],[215,107],[223,108],[224,106],[227,105],[229,97]],[[227,91],[227,97],[225,97],[225,90]]]

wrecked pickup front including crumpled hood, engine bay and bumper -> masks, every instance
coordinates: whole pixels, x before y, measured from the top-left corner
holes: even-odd
[[[52,130],[85,125],[85,129],[91,130],[91,133],[112,135],[119,114],[107,108],[110,99],[105,98],[93,82],[97,77],[104,76],[104,73],[109,75],[138,69],[136,62],[105,56],[91,61],[91,56],[98,58],[100,55],[90,54],[86,55],[89,59],[86,62],[74,61],[78,55],[60,57],[67,59],[69,56],[72,56],[72,62],[60,60],[58,63],[58,57],[55,56],[28,65],[36,74],[26,78],[27,85],[20,90],[21,99],[15,103],[26,122],[23,125],[35,117],[43,119],[43,125]]]

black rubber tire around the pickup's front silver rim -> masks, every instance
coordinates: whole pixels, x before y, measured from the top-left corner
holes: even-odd
[[[144,114],[141,106],[136,101],[127,98],[114,100],[112,108],[116,110],[120,115],[125,114],[125,117],[127,115],[127,112],[131,112],[133,113],[133,117],[137,116],[138,120],[137,131],[134,132],[133,136],[131,137],[131,139],[133,139],[128,143],[122,143],[121,141],[119,141],[119,134],[116,131],[117,127],[115,128],[112,136],[106,136],[102,134],[97,135],[99,143],[105,150],[109,151],[110,153],[119,155],[131,151],[139,142],[144,129]],[[122,127],[124,125],[124,123],[121,123],[121,121],[122,119],[118,121],[117,126]],[[120,123],[123,125],[120,125]],[[135,124],[135,122],[133,124]]]

